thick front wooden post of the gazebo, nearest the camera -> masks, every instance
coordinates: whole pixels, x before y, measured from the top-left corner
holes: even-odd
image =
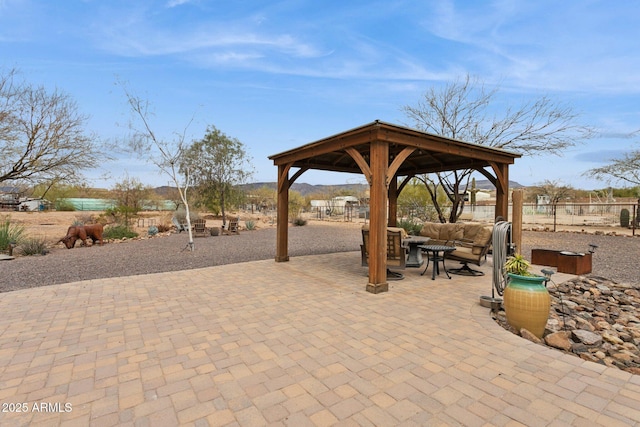
[[[371,141],[371,184],[369,222],[369,284],[367,291],[377,294],[389,290],[387,282],[387,172],[389,145]]]

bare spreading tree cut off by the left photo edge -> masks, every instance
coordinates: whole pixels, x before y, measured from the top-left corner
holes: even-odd
[[[106,158],[85,134],[86,121],[69,95],[19,81],[15,69],[0,70],[0,182],[80,181],[81,170]]]

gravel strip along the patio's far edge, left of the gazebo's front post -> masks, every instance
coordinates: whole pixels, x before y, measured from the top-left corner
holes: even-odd
[[[289,256],[359,251],[357,224],[309,223],[289,228]],[[62,244],[46,256],[0,261],[0,292],[104,277],[161,273],[246,261],[275,259],[276,229],[241,231],[237,235],[194,238],[195,251],[185,249],[186,233],[66,249]]]

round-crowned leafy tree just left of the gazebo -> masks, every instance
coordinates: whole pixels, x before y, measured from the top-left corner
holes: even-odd
[[[243,184],[253,174],[245,146],[209,126],[200,141],[185,150],[180,170],[191,171],[193,182],[209,198],[216,199],[226,225],[226,203],[234,186]]]

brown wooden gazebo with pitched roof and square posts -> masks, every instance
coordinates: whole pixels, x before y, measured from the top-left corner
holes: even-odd
[[[369,283],[388,290],[386,229],[396,224],[398,194],[415,175],[473,169],[496,187],[495,215],[508,218],[509,165],[519,154],[456,141],[376,120],[270,156],[278,167],[276,262],[289,260],[289,188],[304,172],[318,169],[364,174],[370,188]],[[290,177],[291,168],[298,170]]]

